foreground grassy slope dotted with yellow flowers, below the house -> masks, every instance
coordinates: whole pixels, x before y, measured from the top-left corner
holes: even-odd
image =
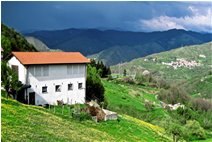
[[[2,141],[170,141],[162,128],[133,118],[95,123],[2,97]]]

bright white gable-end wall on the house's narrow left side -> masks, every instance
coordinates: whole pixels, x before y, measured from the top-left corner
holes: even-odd
[[[16,57],[12,57],[8,61],[8,65],[12,67],[12,65],[18,66],[18,79],[25,84],[26,83],[26,68],[23,66]]]

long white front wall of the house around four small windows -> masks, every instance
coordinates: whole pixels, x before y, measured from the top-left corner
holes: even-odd
[[[67,64],[64,65],[48,65],[48,76],[36,76],[37,67],[43,65],[31,65],[28,67],[28,84],[31,88],[30,92],[35,92],[35,104],[57,104],[57,100],[63,100],[67,104],[85,103],[85,87],[86,87],[86,65],[76,64],[74,68],[79,68],[78,74],[68,74]],[[68,90],[68,84],[73,84],[73,90]],[[78,89],[78,83],[82,83],[82,89]],[[61,92],[55,91],[55,86],[61,85]],[[42,87],[47,86],[47,93],[42,93]]]

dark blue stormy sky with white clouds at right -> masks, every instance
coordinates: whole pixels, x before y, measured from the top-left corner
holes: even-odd
[[[2,2],[2,22],[18,31],[100,28],[212,33],[212,2]]]

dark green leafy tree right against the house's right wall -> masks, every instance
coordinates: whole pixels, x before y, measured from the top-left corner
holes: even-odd
[[[88,65],[86,80],[86,100],[104,101],[104,86],[95,67]]]

